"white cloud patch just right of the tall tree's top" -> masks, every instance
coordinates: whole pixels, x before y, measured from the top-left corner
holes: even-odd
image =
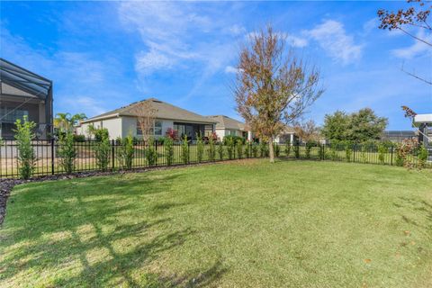
[[[344,64],[355,62],[361,58],[363,45],[355,43],[354,37],[347,34],[344,25],[338,21],[328,20],[305,34],[320,43],[331,58]]]

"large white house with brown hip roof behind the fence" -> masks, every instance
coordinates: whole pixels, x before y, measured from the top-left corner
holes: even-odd
[[[168,129],[176,130],[179,137],[186,135],[188,139],[196,139],[197,133],[209,136],[214,131],[216,121],[212,121],[209,118],[155,98],[143,101],[149,101],[151,107],[156,110],[156,120],[153,128],[153,134],[156,139],[166,136]],[[139,103],[131,103],[128,106],[81,121],[80,125],[76,128],[76,132],[85,135],[87,138],[91,138],[88,128],[90,125],[93,125],[94,128],[106,128],[110,133],[110,139],[124,138],[129,134],[139,138],[142,136],[136,113]]]

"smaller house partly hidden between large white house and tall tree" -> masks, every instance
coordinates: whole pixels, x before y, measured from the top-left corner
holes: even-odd
[[[211,121],[216,121],[216,135],[223,140],[225,136],[239,136],[244,139],[252,140],[252,132],[247,129],[247,125],[225,115],[207,116]]]

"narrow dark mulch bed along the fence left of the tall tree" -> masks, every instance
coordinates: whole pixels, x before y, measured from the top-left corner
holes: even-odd
[[[229,162],[243,162],[243,161],[249,161],[252,159],[242,159],[242,160],[229,160]],[[75,178],[85,178],[90,176],[100,176],[100,175],[121,175],[125,173],[140,173],[140,172],[146,172],[146,171],[155,171],[155,170],[168,170],[168,169],[175,169],[175,168],[183,168],[187,166],[204,166],[204,165],[214,165],[218,163],[226,163],[227,161],[220,161],[220,162],[207,162],[207,163],[200,163],[200,164],[189,164],[189,165],[177,165],[177,166],[155,166],[155,167],[148,167],[148,168],[139,168],[139,169],[133,169],[128,171],[115,171],[115,172],[80,172],[80,173],[74,173],[71,175],[45,175],[40,177],[33,177],[29,180],[20,180],[15,178],[0,178],[0,227],[3,224],[4,217],[6,216],[6,203],[7,198],[9,197],[11,191],[14,189],[15,185],[18,184],[25,184],[25,183],[31,183],[31,182],[43,182],[43,181],[52,181],[52,180],[64,180],[64,179],[75,179]]]

